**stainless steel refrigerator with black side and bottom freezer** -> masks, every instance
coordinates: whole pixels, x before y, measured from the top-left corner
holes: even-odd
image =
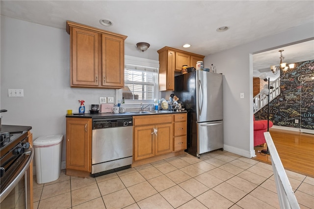
[[[175,77],[174,94],[187,110],[187,153],[223,150],[222,74],[192,71]]]

